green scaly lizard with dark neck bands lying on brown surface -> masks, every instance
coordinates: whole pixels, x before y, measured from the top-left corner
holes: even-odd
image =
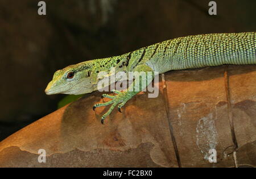
[[[98,73],[113,74],[111,68],[117,72],[159,72],[224,64],[256,64],[256,32],[243,32],[232,34],[205,34],[185,36],[163,41],[129,52],[124,55],[84,61],[76,65],[67,66],[57,70],[53,79],[46,88],[46,94],[85,94],[97,90]],[[73,72],[73,77],[68,78],[68,73]],[[153,77],[152,77],[153,78]],[[147,81],[142,83],[143,81]],[[108,112],[101,118],[104,122],[106,116],[112,113],[115,106],[118,110],[139,91],[146,88],[152,81],[135,78],[127,91],[114,91],[116,95],[102,95],[112,99],[106,103],[97,103],[96,107],[111,105]],[[139,82],[140,89],[135,91],[135,83]]]

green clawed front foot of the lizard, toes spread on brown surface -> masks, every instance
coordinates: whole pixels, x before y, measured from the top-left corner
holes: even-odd
[[[108,116],[110,113],[112,113],[114,107],[117,106],[118,104],[119,104],[118,105],[118,111],[120,113],[122,113],[121,107],[123,105],[125,105],[125,103],[130,99],[129,95],[127,95],[127,92],[125,92],[125,91],[120,92],[120,91],[117,91],[117,90],[113,90],[113,92],[117,95],[102,94],[102,98],[110,98],[112,100],[110,100],[108,102],[105,102],[105,103],[97,103],[93,106],[93,110],[95,110],[96,107],[108,106],[108,105],[112,104],[110,106],[109,110],[104,115],[102,115],[102,117],[101,117],[101,123],[102,124],[104,123],[104,119],[106,118],[106,116]]]

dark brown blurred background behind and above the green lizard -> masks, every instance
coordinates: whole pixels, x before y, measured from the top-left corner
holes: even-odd
[[[53,73],[186,35],[256,31],[255,0],[0,0],[0,141],[57,109]],[[43,130],[43,129],[42,129]]]

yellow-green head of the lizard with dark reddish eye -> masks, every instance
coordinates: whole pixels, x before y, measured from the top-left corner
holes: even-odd
[[[90,65],[87,62],[70,65],[57,70],[53,74],[45,92],[51,94],[85,94],[94,91],[94,83],[90,77]]]

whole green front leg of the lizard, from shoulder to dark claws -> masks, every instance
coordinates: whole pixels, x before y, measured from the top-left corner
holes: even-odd
[[[113,92],[116,95],[103,94],[102,97],[110,98],[112,100],[105,103],[97,103],[96,105],[93,106],[93,110],[95,110],[96,107],[108,106],[112,104],[109,110],[104,115],[102,115],[101,117],[102,124],[104,123],[104,119],[106,118],[106,116],[112,113],[115,106],[118,105],[118,111],[121,112],[121,107],[125,105],[125,103],[129,99],[131,99],[135,94],[139,93],[144,88],[146,88],[147,85],[150,84],[150,82],[154,78],[154,70],[152,70],[146,64],[138,65],[137,67],[134,68],[133,72],[137,72],[139,75],[135,76],[133,83],[129,86],[129,88],[126,91],[113,90]]]

